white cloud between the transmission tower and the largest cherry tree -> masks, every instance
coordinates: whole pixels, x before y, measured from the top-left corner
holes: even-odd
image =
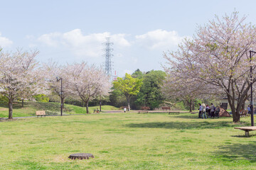
[[[167,30],[153,30],[143,35],[136,35],[136,43],[150,50],[166,50],[172,46],[178,45],[185,37],[181,37],[178,33]]]

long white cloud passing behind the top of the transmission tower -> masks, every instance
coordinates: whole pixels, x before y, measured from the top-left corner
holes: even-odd
[[[83,35],[80,29],[75,29],[67,33],[44,34],[38,38],[38,41],[49,47],[65,47],[77,57],[102,57],[104,48],[102,43],[107,37],[110,37],[114,45],[127,47],[130,43],[124,38],[125,36],[125,34],[111,35],[108,32]]]

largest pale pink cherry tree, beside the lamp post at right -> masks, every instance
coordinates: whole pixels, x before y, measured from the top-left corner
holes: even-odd
[[[182,79],[211,84],[228,96],[233,122],[240,121],[240,109],[255,83],[255,57],[250,61],[249,51],[256,47],[256,29],[239,18],[238,12],[209,21],[200,26],[192,40],[183,40],[176,52],[165,54],[171,71],[179,72]],[[238,101],[235,105],[235,100]]]

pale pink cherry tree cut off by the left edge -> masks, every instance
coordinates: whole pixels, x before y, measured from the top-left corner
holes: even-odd
[[[18,96],[47,93],[43,69],[35,57],[38,51],[0,53],[0,93],[9,100],[9,119],[13,118],[13,102]]]

